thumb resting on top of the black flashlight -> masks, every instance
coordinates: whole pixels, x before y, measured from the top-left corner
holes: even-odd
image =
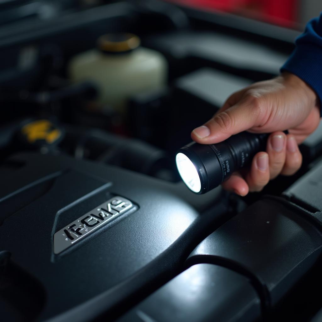
[[[195,128],[191,137],[202,144],[218,143],[234,134],[259,126],[259,116],[259,104],[238,103],[219,112],[203,126]]]

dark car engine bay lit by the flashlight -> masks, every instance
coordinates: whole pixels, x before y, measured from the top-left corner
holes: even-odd
[[[1,320],[318,321],[322,126],[246,197],[174,161],[299,32],[152,0],[0,9]]]

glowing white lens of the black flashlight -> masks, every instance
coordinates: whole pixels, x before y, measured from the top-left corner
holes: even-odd
[[[179,174],[190,190],[198,193],[201,190],[201,181],[198,171],[191,160],[179,152],[175,157]]]

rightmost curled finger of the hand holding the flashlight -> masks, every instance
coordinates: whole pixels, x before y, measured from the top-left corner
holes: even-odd
[[[298,144],[293,135],[287,136],[286,142],[286,159],[282,175],[293,175],[302,165],[302,155],[299,151]]]

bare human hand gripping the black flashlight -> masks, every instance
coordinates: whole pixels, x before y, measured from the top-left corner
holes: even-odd
[[[201,144],[221,142],[242,131],[271,133],[266,152],[257,153],[248,171],[235,172],[223,188],[246,195],[260,191],[279,174],[293,175],[302,164],[298,144],[318,126],[317,95],[297,76],[284,72],[232,94],[191,137]],[[285,135],[282,131],[289,130]]]

